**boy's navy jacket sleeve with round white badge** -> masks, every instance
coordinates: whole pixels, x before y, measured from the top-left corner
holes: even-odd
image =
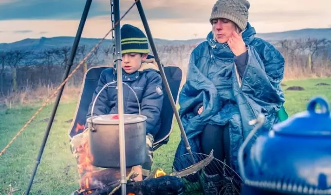
[[[150,133],[153,136],[158,131],[158,129],[155,129],[155,125],[160,119],[162,105],[162,78],[160,74],[155,72],[147,79],[147,88],[141,104],[141,114],[147,117],[146,133]]]

